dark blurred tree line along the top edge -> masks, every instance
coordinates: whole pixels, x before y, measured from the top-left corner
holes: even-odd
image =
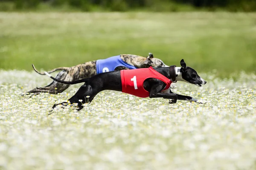
[[[256,0],[2,0],[0,10],[4,11],[10,3],[13,10],[36,9],[44,4],[52,8],[68,6],[81,11],[256,11]]]

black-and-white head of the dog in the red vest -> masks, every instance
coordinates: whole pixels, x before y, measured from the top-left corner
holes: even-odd
[[[207,83],[204,79],[198,76],[197,72],[193,68],[186,67],[186,63],[183,59],[180,61],[180,65],[181,81],[188,82],[199,87]]]

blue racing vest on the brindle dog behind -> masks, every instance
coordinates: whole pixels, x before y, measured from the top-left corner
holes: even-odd
[[[108,72],[108,71],[114,71],[116,67],[123,66],[127,67],[129,69],[136,69],[133,65],[129,65],[126,62],[124,62],[120,55],[109,57],[107,59],[98,59],[96,61],[96,71],[97,74]]]

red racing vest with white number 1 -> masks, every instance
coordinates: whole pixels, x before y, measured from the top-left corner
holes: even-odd
[[[134,70],[121,70],[122,92],[132,94],[138,97],[149,97],[149,92],[143,87],[145,79],[154,78],[166,83],[166,87],[162,90],[170,88],[172,81],[163,74],[158,73],[152,67],[137,68]]]

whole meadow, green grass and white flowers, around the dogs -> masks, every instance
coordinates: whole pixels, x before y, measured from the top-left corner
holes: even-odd
[[[0,169],[256,169],[255,33],[253,13],[0,13]],[[51,82],[32,63],[148,52],[195,68],[207,84],[172,91],[207,103],[102,91],[79,112],[48,115],[79,85],[21,96]]]

